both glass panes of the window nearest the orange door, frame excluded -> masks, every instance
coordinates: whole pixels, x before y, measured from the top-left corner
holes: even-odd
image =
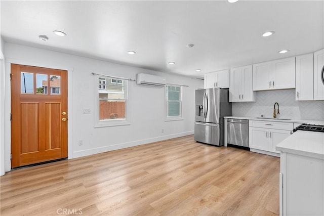
[[[126,118],[126,80],[98,78],[99,120]]]

